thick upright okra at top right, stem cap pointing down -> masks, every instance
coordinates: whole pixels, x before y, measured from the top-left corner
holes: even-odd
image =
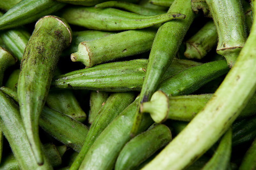
[[[223,55],[231,68],[244,47],[246,26],[240,0],[206,0],[217,29],[217,53]],[[224,17],[225,16],[225,17]]]

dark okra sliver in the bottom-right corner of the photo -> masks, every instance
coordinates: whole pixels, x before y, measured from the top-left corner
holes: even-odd
[[[255,169],[256,168],[256,139],[252,142],[251,147],[245,153],[239,170]]]

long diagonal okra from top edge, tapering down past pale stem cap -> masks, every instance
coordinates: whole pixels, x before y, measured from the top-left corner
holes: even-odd
[[[194,19],[191,2],[188,0],[174,1],[168,12],[183,13],[186,15],[186,18],[180,21],[173,20],[166,22],[156,33],[149,55],[147,72],[141,88],[140,101],[136,110],[131,135],[136,133],[141,121],[142,113],[140,113],[140,103],[150,100],[152,94],[157,88],[157,85],[160,83],[161,77],[172,63],[172,60]]]

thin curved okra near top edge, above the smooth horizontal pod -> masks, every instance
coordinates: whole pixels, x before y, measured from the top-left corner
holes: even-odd
[[[107,1],[107,2],[103,2],[95,5],[95,8],[113,8],[113,7],[121,8],[126,11],[134,12],[140,15],[159,15],[159,14],[166,13],[165,11],[148,9],[141,5],[132,4],[129,2],[122,2],[122,1]]]

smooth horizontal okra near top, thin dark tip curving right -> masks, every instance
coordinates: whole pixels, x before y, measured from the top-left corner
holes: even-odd
[[[69,24],[88,29],[119,31],[146,28],[172,19],[184,19],[186,15],[175,12],[146,16],[113,8],[70,7],[63,10],[60,17]]]

